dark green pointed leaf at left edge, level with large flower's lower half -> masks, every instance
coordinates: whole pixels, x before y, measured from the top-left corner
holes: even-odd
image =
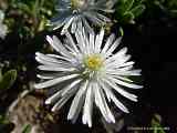
[[[10,70],[6,72],[3,75],[0,72],[0,91],[10,89],[17,79],[17,71]]]

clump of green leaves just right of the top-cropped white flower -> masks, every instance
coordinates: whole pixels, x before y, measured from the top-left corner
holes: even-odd
[[[119,0],[116,4],[116,19],[119,23],[135,23],[145,10],[142,0]]]

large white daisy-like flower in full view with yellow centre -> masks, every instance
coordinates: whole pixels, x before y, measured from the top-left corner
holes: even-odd
[[[129,75],[140,75],[140,70],[133,70],[133,61],[128,61],[127,48],[115,52],[121,38],[112,34],[103,42],[104,30],[100,34],[86,34],[84,30],[75,33],[75,41],[70,33],[63,44],[55,35],[46,37],[51,47],[59,54],[42,54],[37,52],[39,69],[44,71],[38,76],[44,80],[34,85],[35,89],[53,88],[55,93],[46,99],[46,104],[54,104],[52,111],[60,110],[71,98],[72,101],[67,120],[75,122],[80,112],[83,112],[83,124],[92,126],[93,105],[98,108],[103,117],[108,123],[114,123],[107,103],[115,105],[123,112],[128,110],[116,98],[121,95],[137,101],[137,96],[127,92],[123,86],[140,89],[134,84]],[[116,93],[118,92],[118,93]],[[83,110],[83,111],[82,111]]]

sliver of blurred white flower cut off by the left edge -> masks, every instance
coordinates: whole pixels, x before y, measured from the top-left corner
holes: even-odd
[[[0,38],[4,39],[7,35],[8,27],[3,24],[4,13],[0,10]]]

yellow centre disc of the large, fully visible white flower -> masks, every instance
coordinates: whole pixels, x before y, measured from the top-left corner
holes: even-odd
[[[92,71],[97,71],[103,66],[103,59],[98,54],[92,54],[85,58],[85,66]]]

